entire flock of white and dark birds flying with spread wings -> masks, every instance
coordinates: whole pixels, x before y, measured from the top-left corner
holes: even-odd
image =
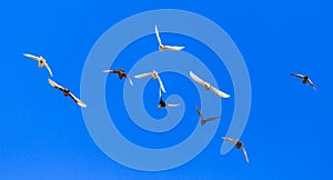
[[[159,33],[159,30],[158,30],[158,27],[155,26],[155,36],[157,36],[157,39],[158,39],[158,42],[159,42],[159,50],[160,51],[163,51],[163,50],[170,50],[170,51],[179,51],[179,50],[182,50],[184,49],[184,47],[176,47],[176,46],[164,46],[161,41],[161,38],[160,38],[160,33]],[[53,77],[53,73],[51,71],[51,68],[50,66],[47,63],[47,60],[43,58],[43,57],[37,57],[37,56],[33,56],[33,54],[28,54],[28,53],[23,53],[23,56],[30,58],[30,59],[33,59],[36,61],[38,61],[38,67],[39,68],[47,68],[50,76]],[[122,69],[114,69],[114,70],[104,70],[103,71],[104,73],[118,73],[119,76],[119,79],[121,80],[122,78],[127,78],[127,80],[130,82],[131,86],[133,86],[133,81],[131,80],[131,78],[125,73],[124,70]],[[222,92],[221,90],[212,87],[209,82],[205,82],[204,80],[202,80],[201,78],[199,78],[196,74],[194,74],[192,71],[189,72],[190,73],[190,77],[198,83],[202,84],[204,87],[205,90],[211,90],[212,92],[214,92],[215,94],[218,94],[219,97],[221,98],[230,98],[230,94],[225,93],[225,92]],[[300,74],[300,73],[291,73],[291,76],[294,76],[294,77],[297,77],[297,78],[301,78],[302,79],[302,83],[309,83],[311,84],[311,87],[316,90],[314,83],[310,80],[310,78],[307,76],[303,76],[303,74]],[[137,74],[134,76],[134,78],[137,79],[141,79],[141,78],[149,78],[149,77],[152,77],[153,80],[158,80],[159,83],[160,83],[160,101],[159,101],[159,106],[158,108],[159,109],[162,109],[162,108],[167,108],[167,107],[178,107],[180,106],[179,103],[176,104],[173,104],[173,103],[165,103],[162,99],[162,92],[167,92],[165,91],[165,88],[163,86],[163,82],[159,76],[159,73],[155,71],[155,70],[152,70],[152,72],[147,72],[147,73],[141,73],[141,74]],[[85,108],[87,104],[81,101],[79,98],[77,98],[69,89],[64,88],[64,87],[61,87],[60,84],[56,83],[53,80],[51,79],[48,79],[50,86],[52,86],[53,88],[60,90],[63,92],[63,96],[64,97],[71,97],[71,99],[77,103],[79,104],[80,107],[82,108]],[[213,121],[213,120],[218,120],[220,119],[221,117],[212,117],[212,118],[208,118],[208,119],[204,119],[203,118],[203,114],[200,110],[200,108],[195,104],[195,109],[196,109],[196,112],[200,117],[200,122],[201,122],[201,126],[205,124],[206,122],[209,121]],[[232,142],[232,143],[235,143],[235,148],[236,149],[242,149],[243,153],[244,153],[244,157],[245,157],[245,160],[246,162],[249,162],[249,157],[248,157],[248,153],[245,151],[245,148],[244,148],[244,144],[242,141],[240,141],[239,139],[232,139],[232,138],[226,138],[226,137],[223,137],[222,138],[223,140],[225,141],[229,141],[229,142]]]

